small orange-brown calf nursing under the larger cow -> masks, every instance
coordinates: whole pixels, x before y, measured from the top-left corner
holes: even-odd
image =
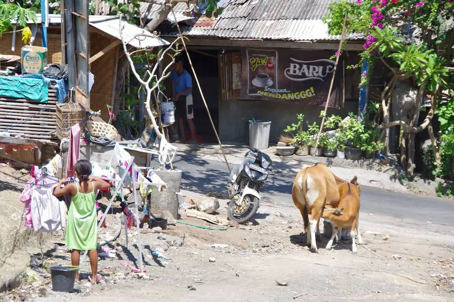
[[[355,176],[350,182],[343,183],[339,186],[339,205],[338,209],[332,209],[326,206],[322,217],[329,219],[333,227],[333,234],[330,241],[326,244],[326,249],[331,249],[334,238],[341,228],[350,229],[352,239],[351,249],[356,253],[355,238],[358,236],[358,244],[363,244],[361,234],[358,230],[359,210],[361,187],[356,182],[358,178]]]

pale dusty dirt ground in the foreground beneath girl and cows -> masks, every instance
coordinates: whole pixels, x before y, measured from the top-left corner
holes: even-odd
[[[36,271],[28,268],[22,285],[0,294],[0,301],[454,301],[453,227],[362,212],[360,231],[366,244],[358,246],[358,254],[350,252],[348,242],[325,250],[324,236],[317,242],[320,253],[312,254],[304,245],[306,235],[300,234],[299,211],[272,201],[260,205],[254,223],[224,231],[184,224],[170,225],[162,233],[142,229],[145,274],[120,264],[123,260],[139,266],[137,231],[129,231],[127,249],[123,228],[109,245],[115,257],[99,260],[100,284],[83,279],[74,292],[56,293],[49,267],[70,265],[70,254],[59,243],[64,242],[64,234],[39,239],[25,230],[23,205],[18,201],[21,181],[5,173],[21,176],[5,167],[0,172],[1,250],[8,258],[11,240],[4,240],[18,234],[15,252],[34,255],[43,265]],[[206,198],[183,194],[186,200]],[[226,200],[219,202],[218,215],[227,217]],[[121,220],[120,214],[109,214],[100,239],[113,235]],[[179,221],[222,227],[198,219]],[[151,250],[169,259],[154,259]],[[88,262],[81,272],[86,278]]]

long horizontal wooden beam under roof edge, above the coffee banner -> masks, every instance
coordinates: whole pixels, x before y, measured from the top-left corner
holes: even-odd
[[[173,42],[175,38],[164,38],[168,42]],[[270,40],[228,40],[228,39],[204,39],[191,38],[185,42],[192,46],[212,46],[212,47],[267,47],[267,48],[291,48],[306,50],[337,50],[339,41],[270,41]],[[345,44],[344,50],[363,51],[363,42],[350,41]]]

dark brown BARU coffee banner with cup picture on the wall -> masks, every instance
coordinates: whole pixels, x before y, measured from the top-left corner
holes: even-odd
[[[245,49],[241,99],[325,105],[334,71],[333,55],[334,51]],[[341,79],[337,73],[329,107],[339,105]]]

